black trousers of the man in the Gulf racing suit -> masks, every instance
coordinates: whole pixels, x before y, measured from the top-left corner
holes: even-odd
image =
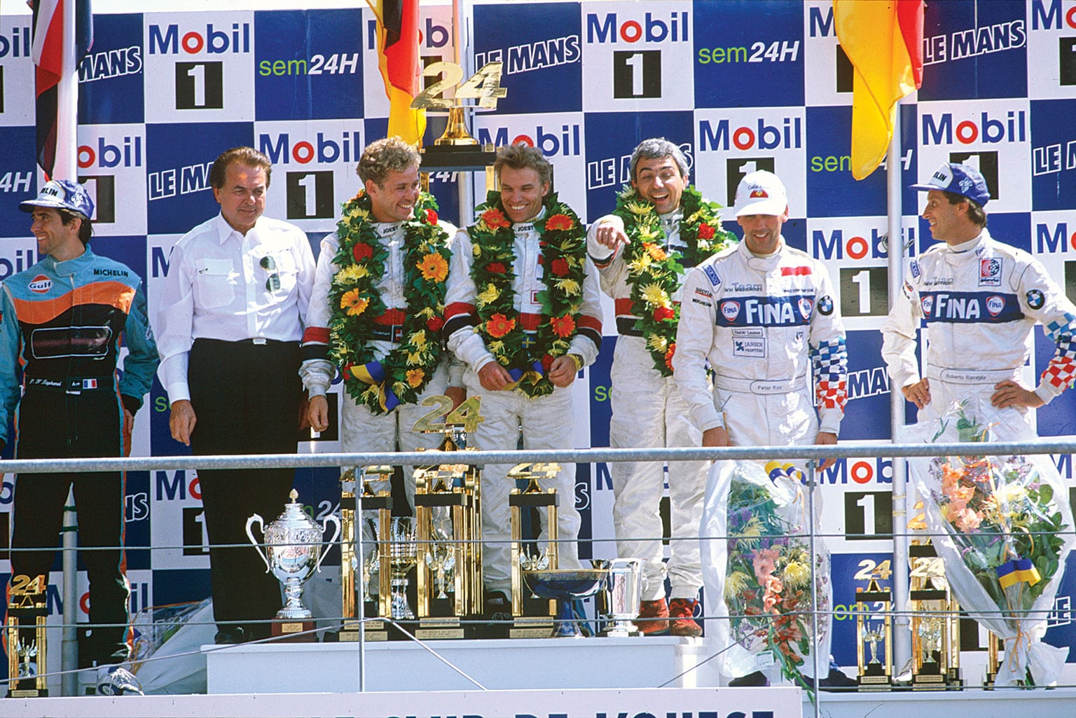
[[[81,394],[28,388],[18,408],[19,459],[118,456],[123,406],[109,384]],[[33,579],[53,566],[68,489],[74,488],[79,545],[89,579],[89,656],[98,665],[127,660],[132,634],[124,555],[124,475],[23,474],[15,485],[12,575]],[[99,548],[99,547],[103,547]],[[20,550],[30,549],[30,550]],[[24,638],[26,639],[26,638]],[[10,648],[9,648],[10,649]]]

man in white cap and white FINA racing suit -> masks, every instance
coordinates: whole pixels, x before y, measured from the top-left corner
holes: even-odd
[[[775,174],[745,177],[735,212],[744,241],[703,262],[684,280],[672,357],[674,376],[703,430],[703,446],[835,445],[848,354],[830,276],[821,262],[789,247],[781,236],[788,195]],[[714,372],[712,392],[707,366]],[[704,536],[716,535],[709,493]],[[718,545],[708,541],[703,549],[711,606],[723,603],[714,590],[724,580],[714,576],[713,567],[724,565],[712,555]],[[820,617],[820,635],[812,642],[820,657],[830,652],[829,623],[829,616]],[[718,621],[717,633],[727,635],[727,622]],[[804,659],[799,673],[812,673],[809,654]],[[734,668],[733,661],[726,662],[733,685],[764,685],[764,674],[774,671],[762,661],[756,671],[744,665],[740,661]],[[823,685],[849,680],[836,671]]]

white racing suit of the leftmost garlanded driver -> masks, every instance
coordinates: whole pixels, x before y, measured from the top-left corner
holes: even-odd
[[[440,222],[439,225],[449,233],[449,236],[455,233],[455,227],[451,224]],[[374,223],[373,228],[382,243],[388,249],[385,272],[377,286],[381,294],[381,300],[386,307],[385,313],[374,320],[378,336],[382,336],[382,338],[368,343],[373,348],[374,358],[381,360],[398,344],[402,336],[402,316],[407,311],[407,287],[404,283],[405,231],[401,222]],[[332,314],[328,297],[332,278],[340,269],[332,262],[339,249],[340,242],[334,233],[322,240],[321,253],[317,255],[314,288],[310,297],[310,308],[307,310],[307,329],[302,335],[303,361],[299,368],[302,385],[310,392],[310,396],[324,396],[337,375],[337,366],[328,358],[328,326],[329,318]],[[414,404],[400,404],[387,413],[376,414],[365,405],[356,404],[346,392],[341,392],[340,402],[343,405],[340,422],[341,449],[345,452],[384,452],[436,448],[443,438],[440,434],[419,434],[412,431],[412,427],[421,417],[433,410],[430,407],[422,406],[422,400],[425,397],[444,394],[444,389],[449,385],[463,385],[458,377],[462,367],[456,366],[455,380],[450,380],[450,374],[453,374],[453,370],[450,367],[449,354],[445,352],[437,371],[419,395],[417,400]],[[363,467],[356,468],[357,491],[362,491]],[[404,483],[408,503],[413,507],[415,481],[412,466],[404,467]],[[390,491],[390,477],[371,481],[370,485],[374,492]],[[373,512],[368,511],[367,513]],[[366,532],[364,535],[372,541],[373,537],[369,533],[368,523],[368,521],[363,522]],[[372,543],[369,546],[372,546]]]

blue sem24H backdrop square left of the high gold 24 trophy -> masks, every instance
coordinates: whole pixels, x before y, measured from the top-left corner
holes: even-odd
[[[257,119],[362,117],[362,19],[357,8],[255,12]],[[381,81],[376,60],[365,67]]]

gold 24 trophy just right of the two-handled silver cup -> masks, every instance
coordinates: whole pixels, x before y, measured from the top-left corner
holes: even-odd
[[[370,591],[370,581],[377,576],[388,576],[388,568],[383,566],[382,558],[388,545],[388,526],[392,520],[393,498],[387,491],[374,493],[370,485],[371,479],[384,480],[392,476],[392,466],[367,466],[364,476],[362,494],[356,501],[355,469],[351,468],[340,476],[340,525],[343,537],[340,544],[340,585],[342,588],[343,628],[339,640],[358,640],[362,624],[358,620],[358,605],[363,605],[365,619],[365,638],[367,640],[387,640],[388,631],[384,621],[370,620],[386,616],[383,613],[381,596],[387,596],[387,590],[381,590],[374,599]],[[362,504],[362,513],[358,505]],[[374,520],[377,517],[377,520]],[[364,534],[364,553],[358,555],[357,544],[359,531],[364,523],[369,530]],[[369,544],[366,544],[366,540]]]

